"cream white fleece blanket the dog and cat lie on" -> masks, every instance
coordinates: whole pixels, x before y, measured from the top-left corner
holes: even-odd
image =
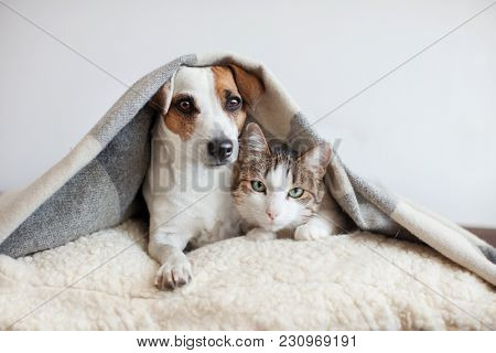
[[[19,259],[0,256],[1,330],[494,330],[490,285],[439,253],[362,233],[244,237],[188,254],[193,282],[159,291],[145,225]],[[105,264],[101,266],[101,264]],[[80,279],[83,277],[83,279]],[[79,280],[80,279],[80,280]]]

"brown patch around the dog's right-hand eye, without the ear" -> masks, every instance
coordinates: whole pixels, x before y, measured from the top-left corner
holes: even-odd
[[[211,68],[214,74],[215,94],[220,106],[235,121],[240,132],[246,120],[246,105],[242,103],[233,72],[227,66],[212,66]]]

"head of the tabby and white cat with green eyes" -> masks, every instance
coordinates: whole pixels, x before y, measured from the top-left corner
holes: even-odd
[[[322,142],[301,156],[270,148],[257,124],[240,140],[233,196],[245,221],[272,232],[296,227],[312,216],[324,195],[331,146]]]

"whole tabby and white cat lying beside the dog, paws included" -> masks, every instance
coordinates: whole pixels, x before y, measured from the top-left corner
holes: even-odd
[[[284,146],[269,147],[260,127],[248,124],[231,191],[247,237],[311,240],[344,233],[345,216],[323,181],[331,156],[327,142],[301,156]]]

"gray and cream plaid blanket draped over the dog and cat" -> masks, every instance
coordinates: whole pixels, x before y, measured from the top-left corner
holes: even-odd
[[[304,115],[262,64],[230,53],[185,55],[138,81],[83,140],[31,185],[0,197],[0,254],[25,256],[121,223],[143,210],[140,199],[150,162],[153,94],[181,65],[238,64],[257,74],[266,93],[252,119],[276,138],[320,140]],[[328,192],[357,227],[414,237],[496,285],[496,249],[413,203],[379,190],[333,158]]]

